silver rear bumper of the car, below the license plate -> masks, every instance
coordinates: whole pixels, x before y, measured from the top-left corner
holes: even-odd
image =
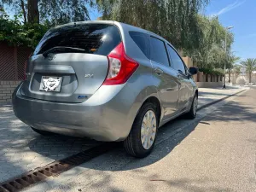
[[[131,91],[130,91],[131,92]],[[49,102],[13,94],[15,115],[26,125],[43,131],[91,137],[98,141],[122,141],[128,136],[139,105],[130,97],[125,84],[102,86],[82,103]]]

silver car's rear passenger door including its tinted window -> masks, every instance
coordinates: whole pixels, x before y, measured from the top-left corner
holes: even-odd
[[[179,78],[170,67],[166,44],[159,38],[150,37],[150,58],[153,77],[156,79],[158,94],[163,108],[163,120],[177,113]]]

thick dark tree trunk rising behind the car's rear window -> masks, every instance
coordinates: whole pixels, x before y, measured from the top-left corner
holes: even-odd
[[[27,22],[39,23],[38,0],[27,1]]]

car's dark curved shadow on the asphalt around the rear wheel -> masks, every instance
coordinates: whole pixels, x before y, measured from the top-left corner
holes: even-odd
[[[109,161],[110,164],[106,165],[104,163],[101,166],[88,168],[116,172],[149,166],[171,154],[173,148],[182,143],[183,139],[188,137],[198,124],[199,121],[184,119],[183,117],[174,119],[160,128],[153,153],[148,157],[143,159],[131,157],[131,155],[125,153],[123,145],[120,144],[113,152],[110,152],[112,155]]]

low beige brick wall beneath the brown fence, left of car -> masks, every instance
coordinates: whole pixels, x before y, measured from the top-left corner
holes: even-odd
[[[12,93],[20,81],[0,81],[0,102],[11,102]]]

